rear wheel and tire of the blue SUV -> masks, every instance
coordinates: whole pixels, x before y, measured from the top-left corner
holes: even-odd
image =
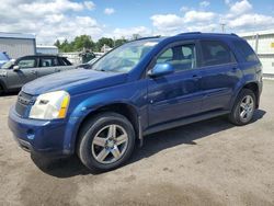
[[[229,114],[229,121],[237,126],[249,124],[253,118],[255,105],[256,99],[254,92],[249,89],[242,89]]]

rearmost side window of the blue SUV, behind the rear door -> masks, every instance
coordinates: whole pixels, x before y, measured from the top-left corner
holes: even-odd
[[[241,56],[246,59],[246,61],[255,61],[258,62],[259,59],[251,48],[251,46],[244,41],[233,41],[235,47],[240,52]]]

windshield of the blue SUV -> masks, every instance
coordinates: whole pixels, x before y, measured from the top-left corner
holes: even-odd
[[[100,58],[92,69],[98,71],[128,72],[158,42],[156,39],[136,41],[124,44]]]

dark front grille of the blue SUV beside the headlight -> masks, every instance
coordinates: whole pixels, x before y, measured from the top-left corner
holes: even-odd
[[[27,106],[33,103],[33,96],[24,92],[20,92],[18,95],[18,102],[15,105],[15,111],[20,116],[25,116]]]

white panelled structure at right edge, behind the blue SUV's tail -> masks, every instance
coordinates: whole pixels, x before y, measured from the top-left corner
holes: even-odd
[[[264,76],[274,76],[274,30],[239,34],[258,54]]]

